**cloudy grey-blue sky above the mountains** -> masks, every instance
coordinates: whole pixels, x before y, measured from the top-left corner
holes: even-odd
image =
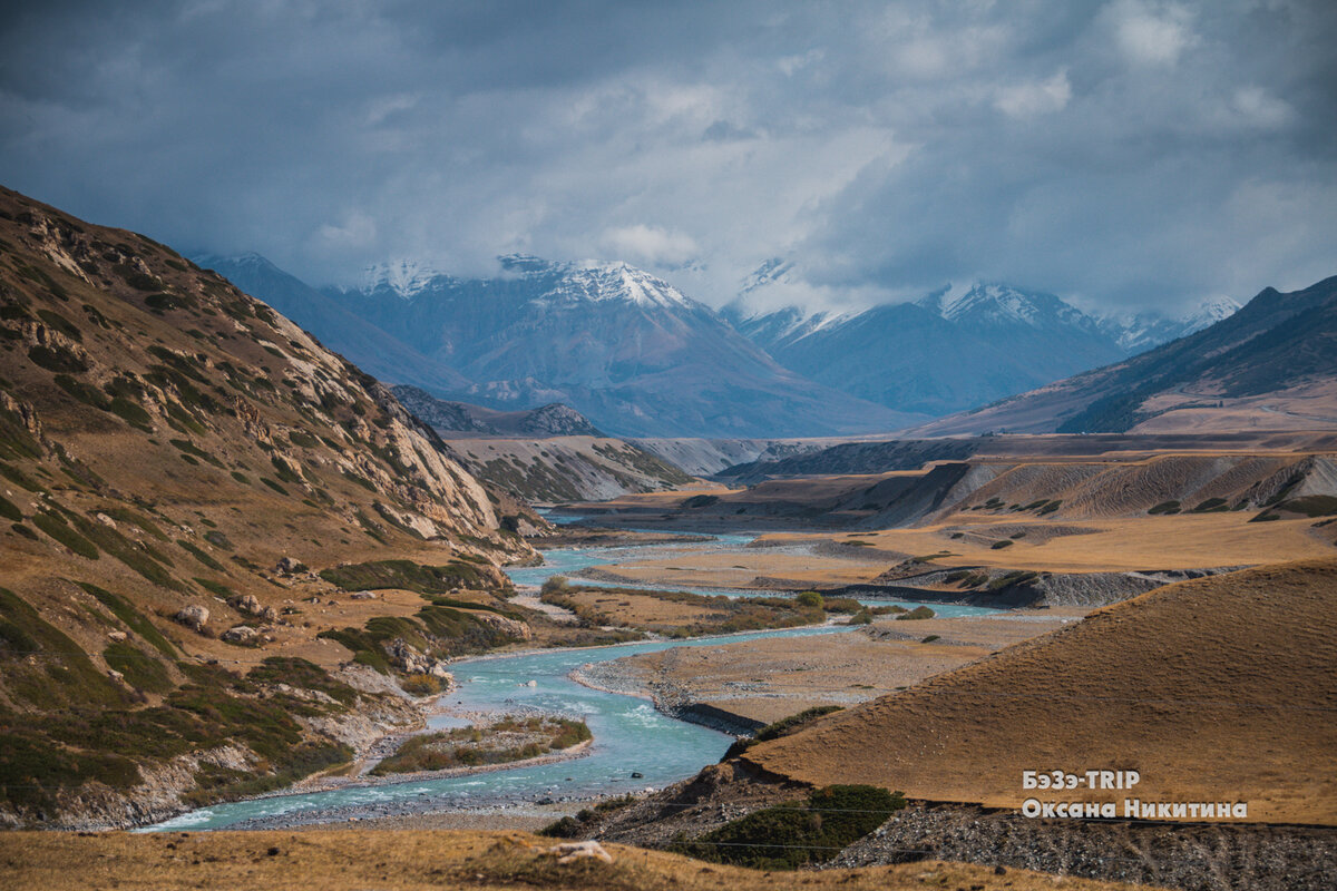
[[[1330,0],[44,0],[0,183],[313,285],[622,259],[714,306],[1337,274]]]

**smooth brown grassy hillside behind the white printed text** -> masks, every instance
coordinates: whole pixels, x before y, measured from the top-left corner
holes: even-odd
[[[1337,823],[1337,562],[1157,589],[902,693],[750,748],[820,785],[1015,808],[1024,769],[1140,771],[1143,801],[1249,801]],[[1035,793],[1114,800],[1124,792]]]

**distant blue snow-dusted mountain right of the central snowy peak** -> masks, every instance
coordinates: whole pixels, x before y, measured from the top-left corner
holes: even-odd
[[[739,310],[734,307],[737,318]],[[787,369],[902,411],[948,414],[1123,355],[1094,319],[1052,294],[977,285],[955,301],[853,315],[783,309],[739,318]]]

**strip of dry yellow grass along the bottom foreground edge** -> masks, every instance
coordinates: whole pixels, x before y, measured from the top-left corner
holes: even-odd
[[[774,891],[838,886],[977,891],[1115,891],[1090,882],[960,863],[773,875],[683,856],[608,846],[614,863],[559,866],[552,839],[520,832],[195,832],[171,835],[0,834],[0,882],[13,891],[417,891],[420,888],[599,888],[610,891]]]

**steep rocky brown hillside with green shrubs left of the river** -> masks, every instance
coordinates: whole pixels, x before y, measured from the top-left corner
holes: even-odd
[[[519,516],[385,387],[170,248],[8,190],[0,477],[0,823],[281,785],[346,759],[358,712],[409,711],[326,672],[352,651],[412,673],[524,632],[472,608],[532,556]],[[336,569],[372,558],[402,562]]]

